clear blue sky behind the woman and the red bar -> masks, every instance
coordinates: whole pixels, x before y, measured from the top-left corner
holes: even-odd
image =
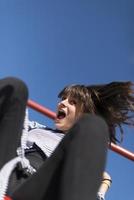
[[[67,84],[134,81],[133,8],[133,0],[0,0],[0,78],[23,79],[29,98],[53,111]],[[134,129],[124,138],[134,152]],[[134,199],[134,162],[109,151],[107,170],[106,199]]]

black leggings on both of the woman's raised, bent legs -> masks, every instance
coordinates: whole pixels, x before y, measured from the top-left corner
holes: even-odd
[[[4,142],[0,140],[1,144],[4,143],[0,146],[3,149],[1,165],[16,154],[27,101],[25,84],[16,79],[5,79],[1,83],[10,81],[13,82],[9,84],[12,85],[10,88],[14,89],[5,92],[6,95],[4,93],[5,100],[1,98],[1,105],[6,104],[0,123],[0,137],[4,135]],[[108,128],[104,120],[85,114],[37,173],[14,192],[13,200],[96,200],[106,162],[107,143]]]

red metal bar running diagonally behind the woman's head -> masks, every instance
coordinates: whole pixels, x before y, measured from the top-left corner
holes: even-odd
[[[47,117],[54,119],[56,117],[55,112],[45,108],[44,106],[32,101],[32,100],[28,100],[27,103],[28,107],[42,113],[43,115],[46,115]],[[124,149],[123,147],[120,147],[118,145],[115,145],[113,143],[111,143],[109,145],[109,149],[111,149],[112,151],[124,156],[125,158],[128,158],[129,160],[134,161],[134,153]]]

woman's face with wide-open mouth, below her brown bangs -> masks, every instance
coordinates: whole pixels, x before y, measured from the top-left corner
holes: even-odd
[[[76,102],[69,98],[62,99],[57,106],[55,126],[67,132],[76,122],[80,114],[76,114]]]

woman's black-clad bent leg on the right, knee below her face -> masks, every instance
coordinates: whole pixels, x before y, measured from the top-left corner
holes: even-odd
[[[97,116],[85,115],[39,171],[13,194],[13,199],[96,200],[107,142],[106,123]]]

